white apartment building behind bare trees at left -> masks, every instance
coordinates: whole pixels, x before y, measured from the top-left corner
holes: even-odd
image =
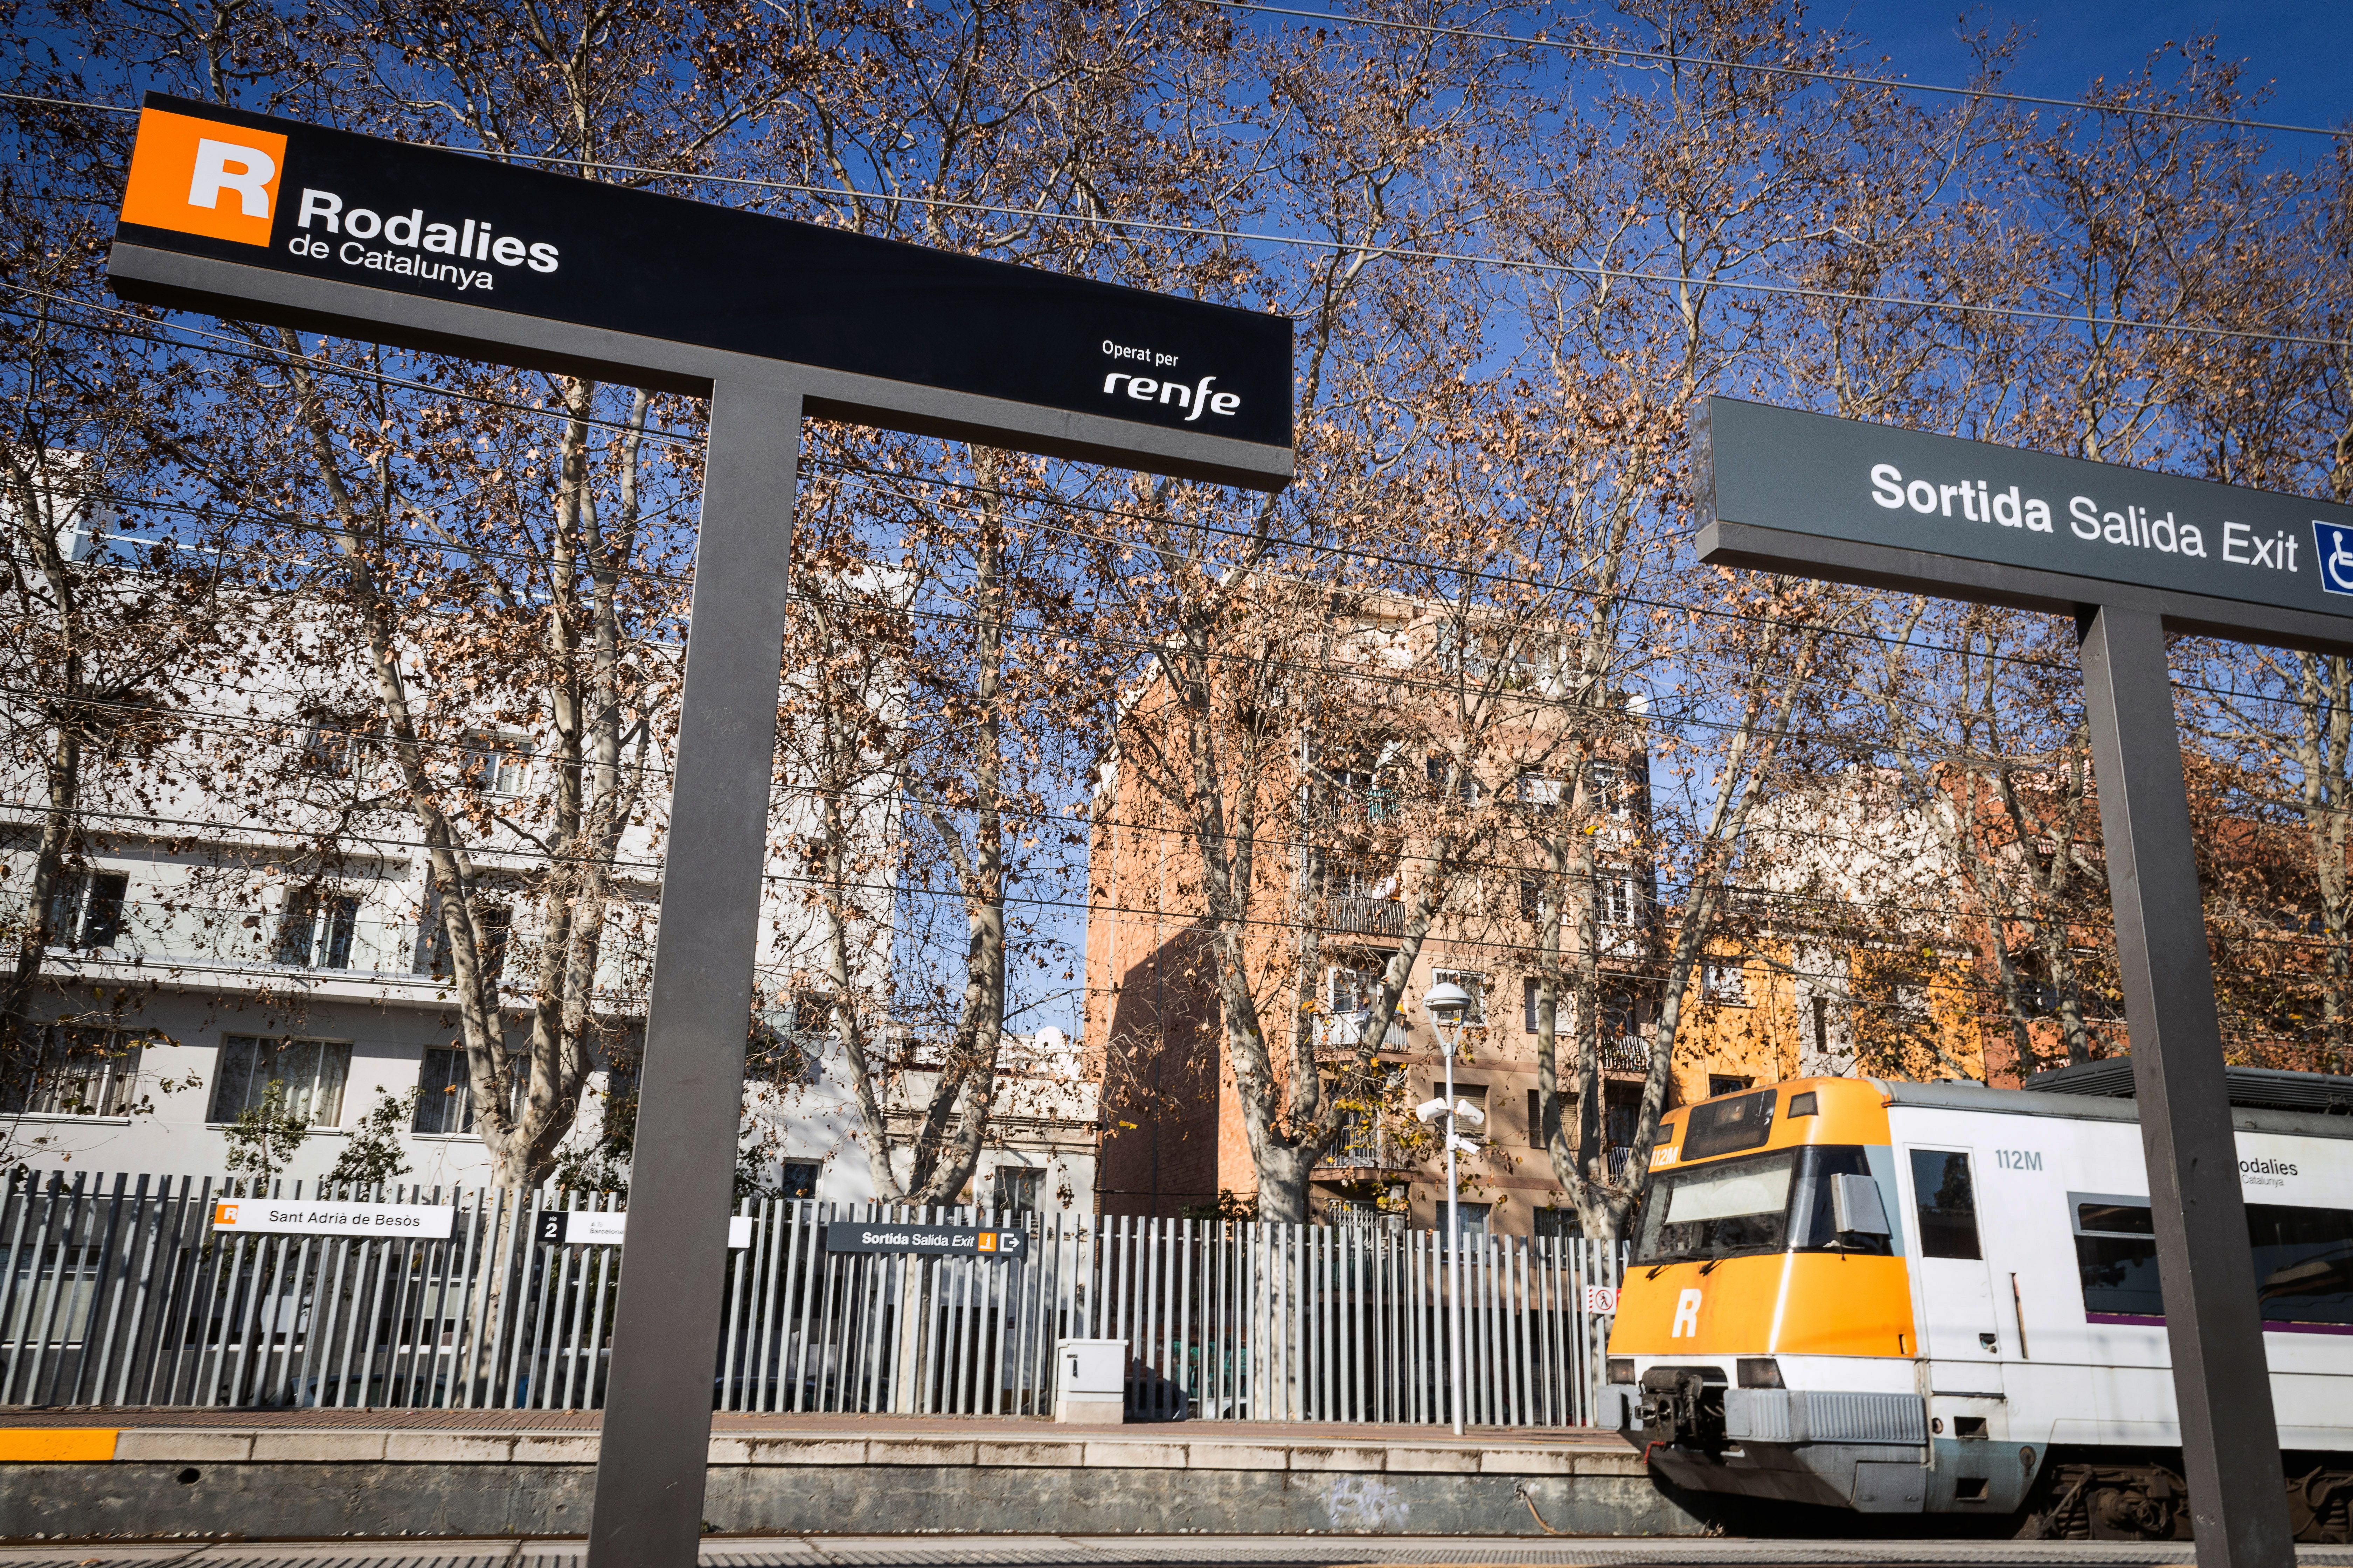
[[[101,529],[61,531],[75,557]],[[256,616],[259,621],[259,616]],[[351,811],[372,771],[388,771],[355,726],[318,719],[336,710],[318,691],[315,668],[273,661],[256,642],[235,661],[235,684],[198,689],[193,708],[212,719],[158,766],[96,759],[85,785],[85,867],[52,898],[52,947],[42,954],[49,1027],[35,1081],[0,1105],[0,1152],[33,1168],[226,1175],[226,1126],[261,1103],[271,1081],[308,1117],[308,1133],[282,1166],[313,1182],[386,1100],[400,1110],[400,1150],[424,1185],[480,1185],[489,1159],[473,1131],[473,1098],[449,997],[419,827],[405,811]],[[405,672],[431,686],[419,661]],[[351,670],[351,691],[365,691]],[[0,696],[0,717],[9,698]],[[351,703],[346,712],[365,712]],[[311,717],[306,717],[311,715]],[[492,722],[466,738],[466,771],[494,823],[471,844],[478,886],[513,877],[515,896],[492,903],[504,931],[501,1001],[520,1041],[529,1030],[532,943],[539,910],[529,872],[541,865],[520,827],[553,780],[541,738]],[[256,757],[289,788],[254,790]],[[661,830],[668,788],[656,755],[642,806],[614,856],[619,907],[605,924],[593,1011],[621,1046],[624,1065],[642,1039],[661,898]],[[791,766],[791,764],[786,764]],[[266,771],[266,769],[264,769]],[[0,757],[0,929],[24,919],[45,802],[35,759]],[[746,1086],[744,1147],[760,1185],[795,1197],[866,1201],[873,1178],[859,1147],[849,1067],[824,1023],[821,912],[807,898],[786,846],[807,839],[816,804],[791,780],[774,797],[769,882],[760,910],[755,987],[762,1023],[779,1048],[755,1060]],[[896,802],[887,785],[852,811],[861,839],[854,860],[887,863]],[[499,825],[504,823],[504,825]],[[322,865],[320,844],[332,842]],[[887,994],[894,903],[887,886],[856,893],[859,947],[852,985]],[[478,905],[482,900],[478,898]],[[87,1023],[104,1016],[104,1027]],[[96,1051],[73,1046],[101,1044]],[[779,1067],[781,1063],[781,1067]],[[1099,1138],[1096,1081],[1059,1030],[1007,1037],[993,1128],[972,1182],[972,1201],[1012,1208],[1094,1208]],[[586,1145],[598,1131],[612,1072],[600,1063],[574,1126]],[[885,1088],[894,1143],[911,1133],[927,1074]],[[906,1154],[899,1152],[901,1171]]]

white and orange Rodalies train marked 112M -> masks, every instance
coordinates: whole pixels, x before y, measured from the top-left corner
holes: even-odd
[[[2289,1512],[2346,1540],[2353,1117],[2233,1121]],[[1598,1418],[1692,1490],[2186,1537],[2162,1312],[2129,1098],[1798,1079],[1661,1121]]]

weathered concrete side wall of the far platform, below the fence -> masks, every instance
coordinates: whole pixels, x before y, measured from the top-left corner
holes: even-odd
[[[5,1465],[0,1540],[565,1537],[586,1530],[593,1483],[595,1467],[586,1462]],[[1228,1469],[1134,1460],[713,1465],[704,1519],[732,1535],[1541,1537],[1529,1505],[1553,1530],[1572,1535],[1708,1528],[1640,1472]]]

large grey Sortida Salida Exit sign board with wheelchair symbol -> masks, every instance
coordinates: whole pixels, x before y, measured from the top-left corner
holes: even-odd
[[[2353,616],[2353,508],[1732,397],[1697,433],[1720,522]]]

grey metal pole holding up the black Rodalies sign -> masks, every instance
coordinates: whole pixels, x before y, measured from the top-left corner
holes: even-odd
[[[704,1528],[798,463],[798,390],[713,388],[593,1568],[692,1563]]]

